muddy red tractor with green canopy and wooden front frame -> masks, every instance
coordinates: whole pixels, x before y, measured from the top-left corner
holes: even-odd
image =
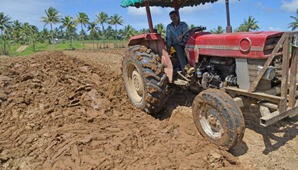
[[[150,33],[129,40],[122,71],[131,103],[149,114],[164,108],[171,84],[197,89],[194,124],[207,140],[231,149],[244,135],[243,106],[258,104],[264,127],[297,115],[298,32],[216,35],[204,32],[203,27],[192,28],[183,35],[191,69],[182,74],[175,69],[177,57],[168,54],[165,40],[153,29],[150,6],[174,7],[180,17],[179,8],[215,1],[122,0],[123,7],[145,6],[150,28]],[[227,18],[227,30],[231,30]]]

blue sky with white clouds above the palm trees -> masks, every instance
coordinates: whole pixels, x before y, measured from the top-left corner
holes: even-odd
[[[120,6],[121,0],[0,0],[0,12],[9,15],[11,20],[28,22],[38,26],[39,29],[50,28],[40,22],[40,17],[45,16],[45,9],[53,6],[60,12],[60,16],[70,15],[76,17],[78,12],[87,13],[90,21],[100,11],[109,16],[118,13],[123,16],[124,24],[136,28],[148,28],[145,8]],[[296,16],[298,0],[230,0],[230,18],[233,29],[237,28],[248,16],[253,16],[258,21],[259,30],[290,30],[288,24],[294,21],[289,16]],[[173,8],[151,7],[153,25],[170,23],[168,13]],[[195,7],[180,8],[181,21],[195,26],[206,26],[207,30],[223,26],[226,28],[226,6],[224,0],[214,4],[205,4]],[[55,25],[55,27],[59,24]],[[117,26],[117,28],[123,28]]]

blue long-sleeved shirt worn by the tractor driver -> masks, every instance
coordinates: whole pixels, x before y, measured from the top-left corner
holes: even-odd
[[[179,35],[184,35],[188,31],[187,23],[180,22],[177,27],[173,23],[167,25],[167,48],[170,48],[174,44],[185,45],[185,42],[178,41]]]

